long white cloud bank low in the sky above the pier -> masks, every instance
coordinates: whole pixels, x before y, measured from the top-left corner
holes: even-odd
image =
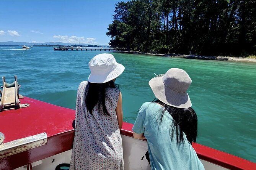
[[[85,38],[85,37],[77,37],[77,36],[71,36],[68,37],[67,35],[54,35],[53,38],[59,39],[60,42],[63,43],[86,43],[86,44],[97,44],[95,42],[96,38]]]

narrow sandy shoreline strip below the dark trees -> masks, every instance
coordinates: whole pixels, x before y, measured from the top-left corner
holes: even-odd
[[[243,58],[243,57],[227,57],[227,56],[203,56],[203,55],[181,55],[181,54],[159,54],[159,53],[145,53],[136,51],[118,51],[119,53],[130,53],[138,55],[154,55],[162,57],[176,57],[176,58],[188,58],[188,59],[205,59],[205,60],[219,60],[219,61],[242,61],[242,62],[256,62],[253,58]]]

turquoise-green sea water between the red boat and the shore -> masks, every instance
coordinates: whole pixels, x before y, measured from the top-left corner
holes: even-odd
[[[104,53],[18,48],[0,47],[0,76],[13,82],[17,75],[20,94],[71,109],[78,85],[90,74],[88,62]],[[188,93],[199,121],[197,142],[256,162],[256,63],[112,54],[126,67],[116,81],[123,95],[124,121],[134,123],[142,103],[154,99],[148,86],[154,73],[178,67],[192,79]]]

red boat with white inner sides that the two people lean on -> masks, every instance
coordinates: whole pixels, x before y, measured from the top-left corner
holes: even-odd
[[[68,169],[75,110],[19,94],[17,77],[0,91],[0,170]],[[3,100],[12,92],[12,98]],[[8,96],[9,97],[9,96]],[[7,103],[6,103],[7,102]],[[132,123],[123,122],[121,136],[125,170],[150,170],[147,141],[133,138]],[[2,143],[2,144],[1,144]],[[193,143],[205,170],[255,170],[256,164],[231,154]]]

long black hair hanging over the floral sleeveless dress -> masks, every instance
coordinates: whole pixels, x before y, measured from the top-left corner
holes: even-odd
[[[106,88],[118,88],[118,86],[113,82],[113,80],[106,83],[90,83],[87,84],[85,92],[85,105],[92,115],[93,108],[98,105],[99,111],[101,111],[101,104],[103,108],[104,115],[110,115],[108,110],[106,109],[105,100],[108,99],[109,102],[111,100],[106,96]],[[112,103],[112,102],[111,102]]]

